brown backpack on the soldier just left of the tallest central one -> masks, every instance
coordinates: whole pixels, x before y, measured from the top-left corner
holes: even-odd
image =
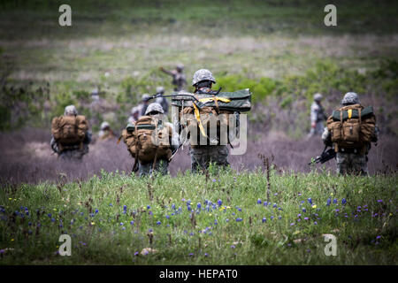
[[[158,140],[153,141],[152,136]],[[135,160],[140,160],[142,164],[153,162],[155,158],[169,159],[172,157],[169,141],[171,136],[171,126],[166,126],[162,120],[150,116],[142,116],[134,124],[127,125],[122,132],[123,141],[131,156]]]

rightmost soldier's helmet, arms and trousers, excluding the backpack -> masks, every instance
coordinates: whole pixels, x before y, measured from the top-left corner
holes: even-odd
[[[359,97],[354,92],[348,92],[341,100],[341,106],[347,106],[351,104],[360,104]],[[376,126],[375,139],[372,142],[377,142],[379,136],[379,130]],[[322,134],[322,141],[325,145],[333,146],[332,144],[332,133],[325,127],[325,131]],[[336,164],[337,173],[340,174],[352,174],[360,173],[363,176],[368,174],[368,157],[367,154],[371,149],[371,143],[365,144],[362,149],[339,149],[336,153]]]

